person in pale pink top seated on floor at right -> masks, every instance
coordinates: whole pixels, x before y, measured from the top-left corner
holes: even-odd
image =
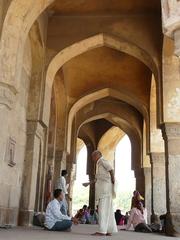
[[[136,204],[136,206],[131,209],[126,230],[129,230],[131,224],[133,224],[136,232],[152,232],[151,228],[146,224],[146,213],[146,209],[142,209],[141,204]]]

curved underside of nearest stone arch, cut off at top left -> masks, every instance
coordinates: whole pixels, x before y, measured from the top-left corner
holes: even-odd
[[[29,30],[38,16],[54,0],[13,0],[8,8],[0,42],[0,78],[17,91],[21,74],[24,44]]]

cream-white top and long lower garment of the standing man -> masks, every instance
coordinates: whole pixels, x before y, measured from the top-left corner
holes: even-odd
[[[107,160],[100,158],[96,164],[96,200],[98,201],[99,232],[117,232],[113,209],[114,186],[109,171],[112,170]]]

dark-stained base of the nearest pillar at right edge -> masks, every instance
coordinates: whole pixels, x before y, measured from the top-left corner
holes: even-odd
[[[167,213],[166,234],[168,236],[180,237],[180,213]]]

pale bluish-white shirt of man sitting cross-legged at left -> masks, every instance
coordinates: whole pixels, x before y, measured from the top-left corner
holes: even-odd
[[[61,204],[57,199],[52,200],[47,208],[46,208],[46,215],[45,215],[45,226],[48,229],[51,229],[56,222],[62,220],[71,220],[71,217],[63,215],[60,211]]]

